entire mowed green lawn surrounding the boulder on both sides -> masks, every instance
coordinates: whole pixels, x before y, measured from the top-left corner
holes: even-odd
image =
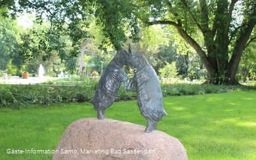
[[[163,98],[168,115],[158,130],[179,139],[188,159],[256,159],[256,91]],[[136,101],[116,102],[110,119],[146,125]],[[89,103],[0,109],[0,159],[51,159],[53,154],[9,154],[54,150],[70,123],[96,117]]]

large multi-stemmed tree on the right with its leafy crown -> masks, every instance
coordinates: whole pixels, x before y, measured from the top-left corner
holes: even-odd
[[[240,58],[256,24],[255,1],[138,1],[133,6],[145,24],[177,29],[200,56],[209,83],[238,83]],[[196,41],[197,31],[203,36],[203,45]]]

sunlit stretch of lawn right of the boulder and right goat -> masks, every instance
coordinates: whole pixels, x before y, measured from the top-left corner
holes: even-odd
[[[178,138],[188,159],[256,158],[255,91],[187,96],[182,101],[169,97],[164,102],[169,115],[158,129]]]

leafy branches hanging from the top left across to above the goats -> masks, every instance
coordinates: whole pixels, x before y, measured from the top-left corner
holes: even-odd
[[[127,1],[128,3],[128,1]],[[110,41],[102,41],[102,44],[113,45],[116,50],[123,47],[127,41],[127,31],[133,41],[139,41],[139,26],[137,19],[123,1],[18,1],[19,6],[14,12],[35,12],[35,22],[50,24],[47,30],[31,31],[39,39],[38,49],[28,49],[26,43],[33,43],[32,38],[24,39],[21,53],[25,60],[30,60],[41,52],[47,52],[45,59],[51,56],[51,51],[56,50],[62,60],[76,57],[79,54],[81,43],[94,37],[87,31],[89,25],[95,23],[102,27],[102,32]],[[129,26],[129,27],[127,27]],[[127,31],[126,31],[127,30]],[[31,36],[33,36],[31,35]],[[72,40],[70,54],[66,55],[64,49],[66,42],[61,41],[62,36],[68,36]],[[28,40],[27,42],[25,40]],[[30,41],[29,41],[30,40]],[[104,45],[101,45],[104,48]],[[31,52],[33,50],[33,52]]]

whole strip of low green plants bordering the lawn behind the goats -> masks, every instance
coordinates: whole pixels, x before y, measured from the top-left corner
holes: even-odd
[[[58,81],[62,81],[61,83]],[[24,104],[53,104],[69,102],[89,102],[95,95],[98,81],[89,77],[74,76],[58,81],[48,81],[46,84],[62,84],[63,87],[45,87],[40,85],[5,85],[0,84],[0,104],[10,108],[19,108]],[[68,81],[68,83],[63,83]],[[70,82],[71,81],[71,82]],[[70,87],[69,85],[74,85]],[[183,96],[230,92],[232,90],[256,89],[245,86],[199,85],[194,83],[161,83],[163,96]],[[136,91],[127,91],[121,87],[116,101],[135,100]],[[1,107],[0,106],[0,107]]]

